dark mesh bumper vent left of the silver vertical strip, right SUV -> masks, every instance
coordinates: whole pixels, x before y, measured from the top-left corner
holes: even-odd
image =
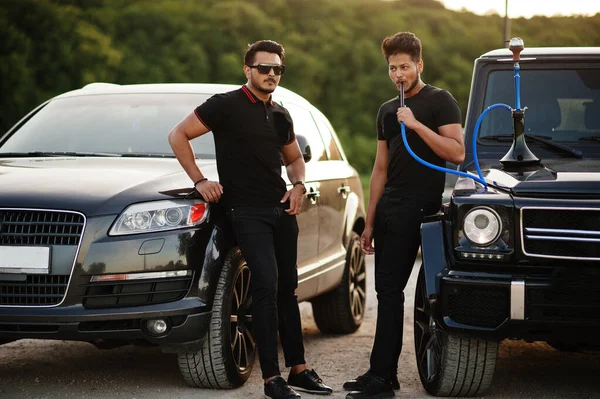
[[[495,328],[508,317],[508,292],[503,287],[473,287],[445,284],[442,312],[453,321],[470,326]]]

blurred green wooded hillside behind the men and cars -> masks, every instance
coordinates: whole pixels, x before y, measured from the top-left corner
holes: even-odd
[[[600,14],[511,21],[526,46],[599,46]],[[244,82],[249,43],[286,48],[282,85],[330,119],[369,176],[379,105],[396,95],[382,39],[412,31],[423,80],[466,111],[473,61],[502,46],[503,20],[436,0],[2,0],[0,131],[37,104],[93,81]]]

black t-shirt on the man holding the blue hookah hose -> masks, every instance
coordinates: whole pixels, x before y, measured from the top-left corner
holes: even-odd
[[[462,123],[458,103],[446,90],[425,85],[416,95],[405,99],[404,103],[419,122],[438,134],[439,126]],[[396,117],[399,106],[398,97],[392,98],[381,105],[377,114],[377,138],[385,140],[388,148],[386,188],[424,201],[439,201],[444,191],[444,173],[422,165],[408,153]],[[421,159],[445,166],[445,161],[416,132],[406,128],[406,140]]]

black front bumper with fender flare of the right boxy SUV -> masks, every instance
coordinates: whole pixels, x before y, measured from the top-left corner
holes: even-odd
[[[442,234],[441,222],[422,230],[427,295],[440,328],[482,339],[595,342],[600,268],[485,261],[457,267]]]

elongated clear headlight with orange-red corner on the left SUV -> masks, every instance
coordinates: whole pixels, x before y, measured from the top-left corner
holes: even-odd
[[[153,201],[123,211],[108,235],[154,233],[199,225],[206,220],[208,204],[198,200]]]

